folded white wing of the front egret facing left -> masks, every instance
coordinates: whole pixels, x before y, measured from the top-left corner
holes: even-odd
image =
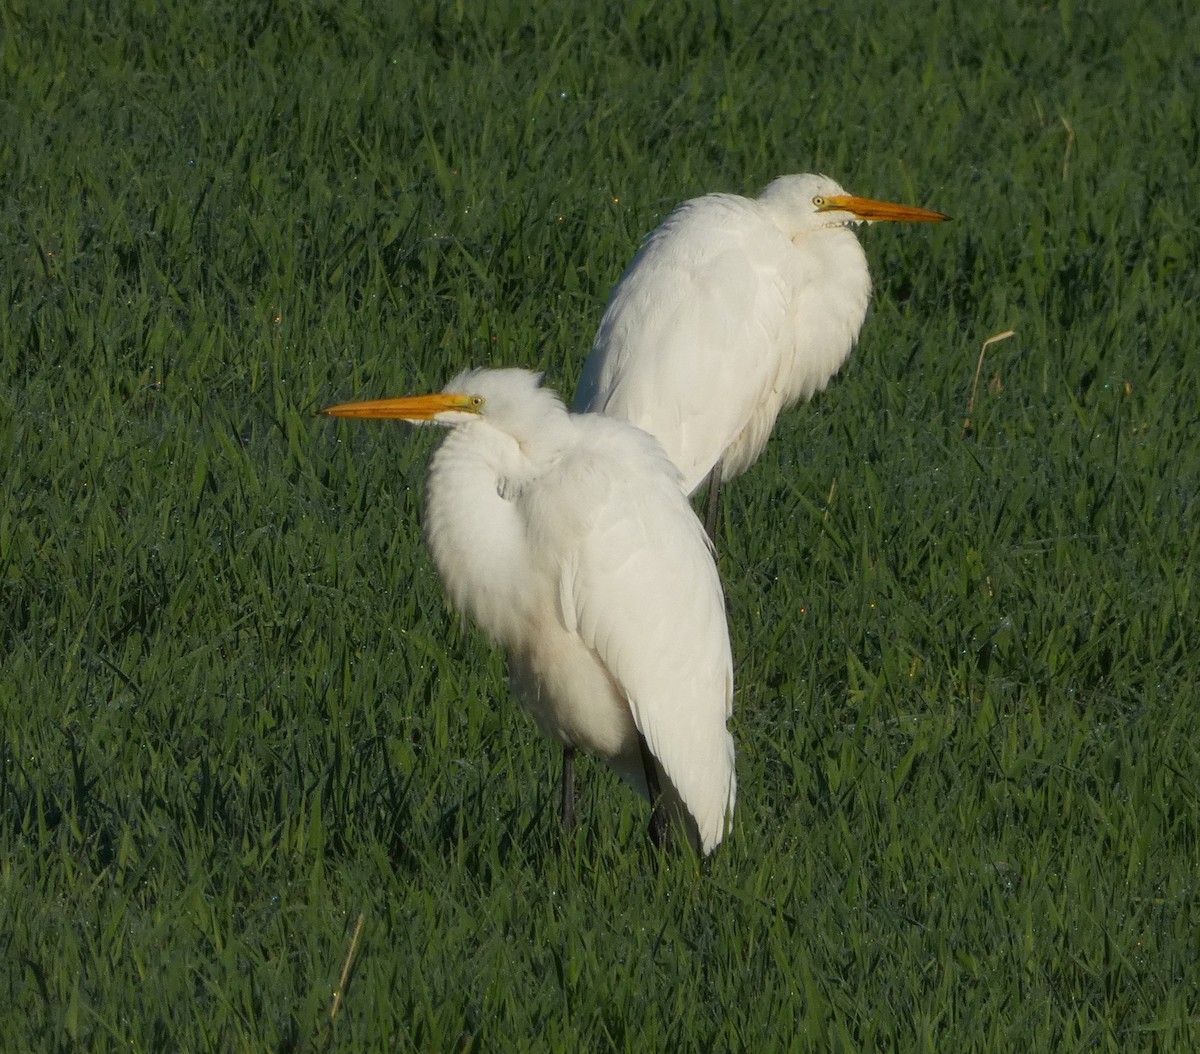
[[[696,824],[706,852],[732,819],[733,664],[725,599],[678,473],[649,436],[602,418],[538,487],[538,545],[574,625]],[[564,510],[570,510],[565,514]]]

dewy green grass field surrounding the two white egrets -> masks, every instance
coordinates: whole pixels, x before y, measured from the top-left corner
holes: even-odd
[[[6,2],[5,1048],[1200,1048],[1196,12]],[[727,491],[732,839],[584,765],[563,844],[434,436],[314,409],[569,395],[804,170],[955,222]]]

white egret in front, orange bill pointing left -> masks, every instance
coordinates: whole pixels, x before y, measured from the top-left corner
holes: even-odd
[[[568,413],[526,370],[468,370],[440,395],[323,413],[451,429],[430,468],[425,532],[460,612],[506,653],[517,699],[574,754],[595,754],[712,852],[736,779],[725,600],[679,473],[624,421]]]

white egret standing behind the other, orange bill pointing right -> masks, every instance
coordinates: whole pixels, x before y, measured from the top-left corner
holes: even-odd
[[[688,493],[710,477],[712,537],[720,483],[757,460],[780,411],[824,389],[858,339],[871,276],[853,228],[947,218],[824,175],[684,202],[613,288],[574,409],[658,437]]]

